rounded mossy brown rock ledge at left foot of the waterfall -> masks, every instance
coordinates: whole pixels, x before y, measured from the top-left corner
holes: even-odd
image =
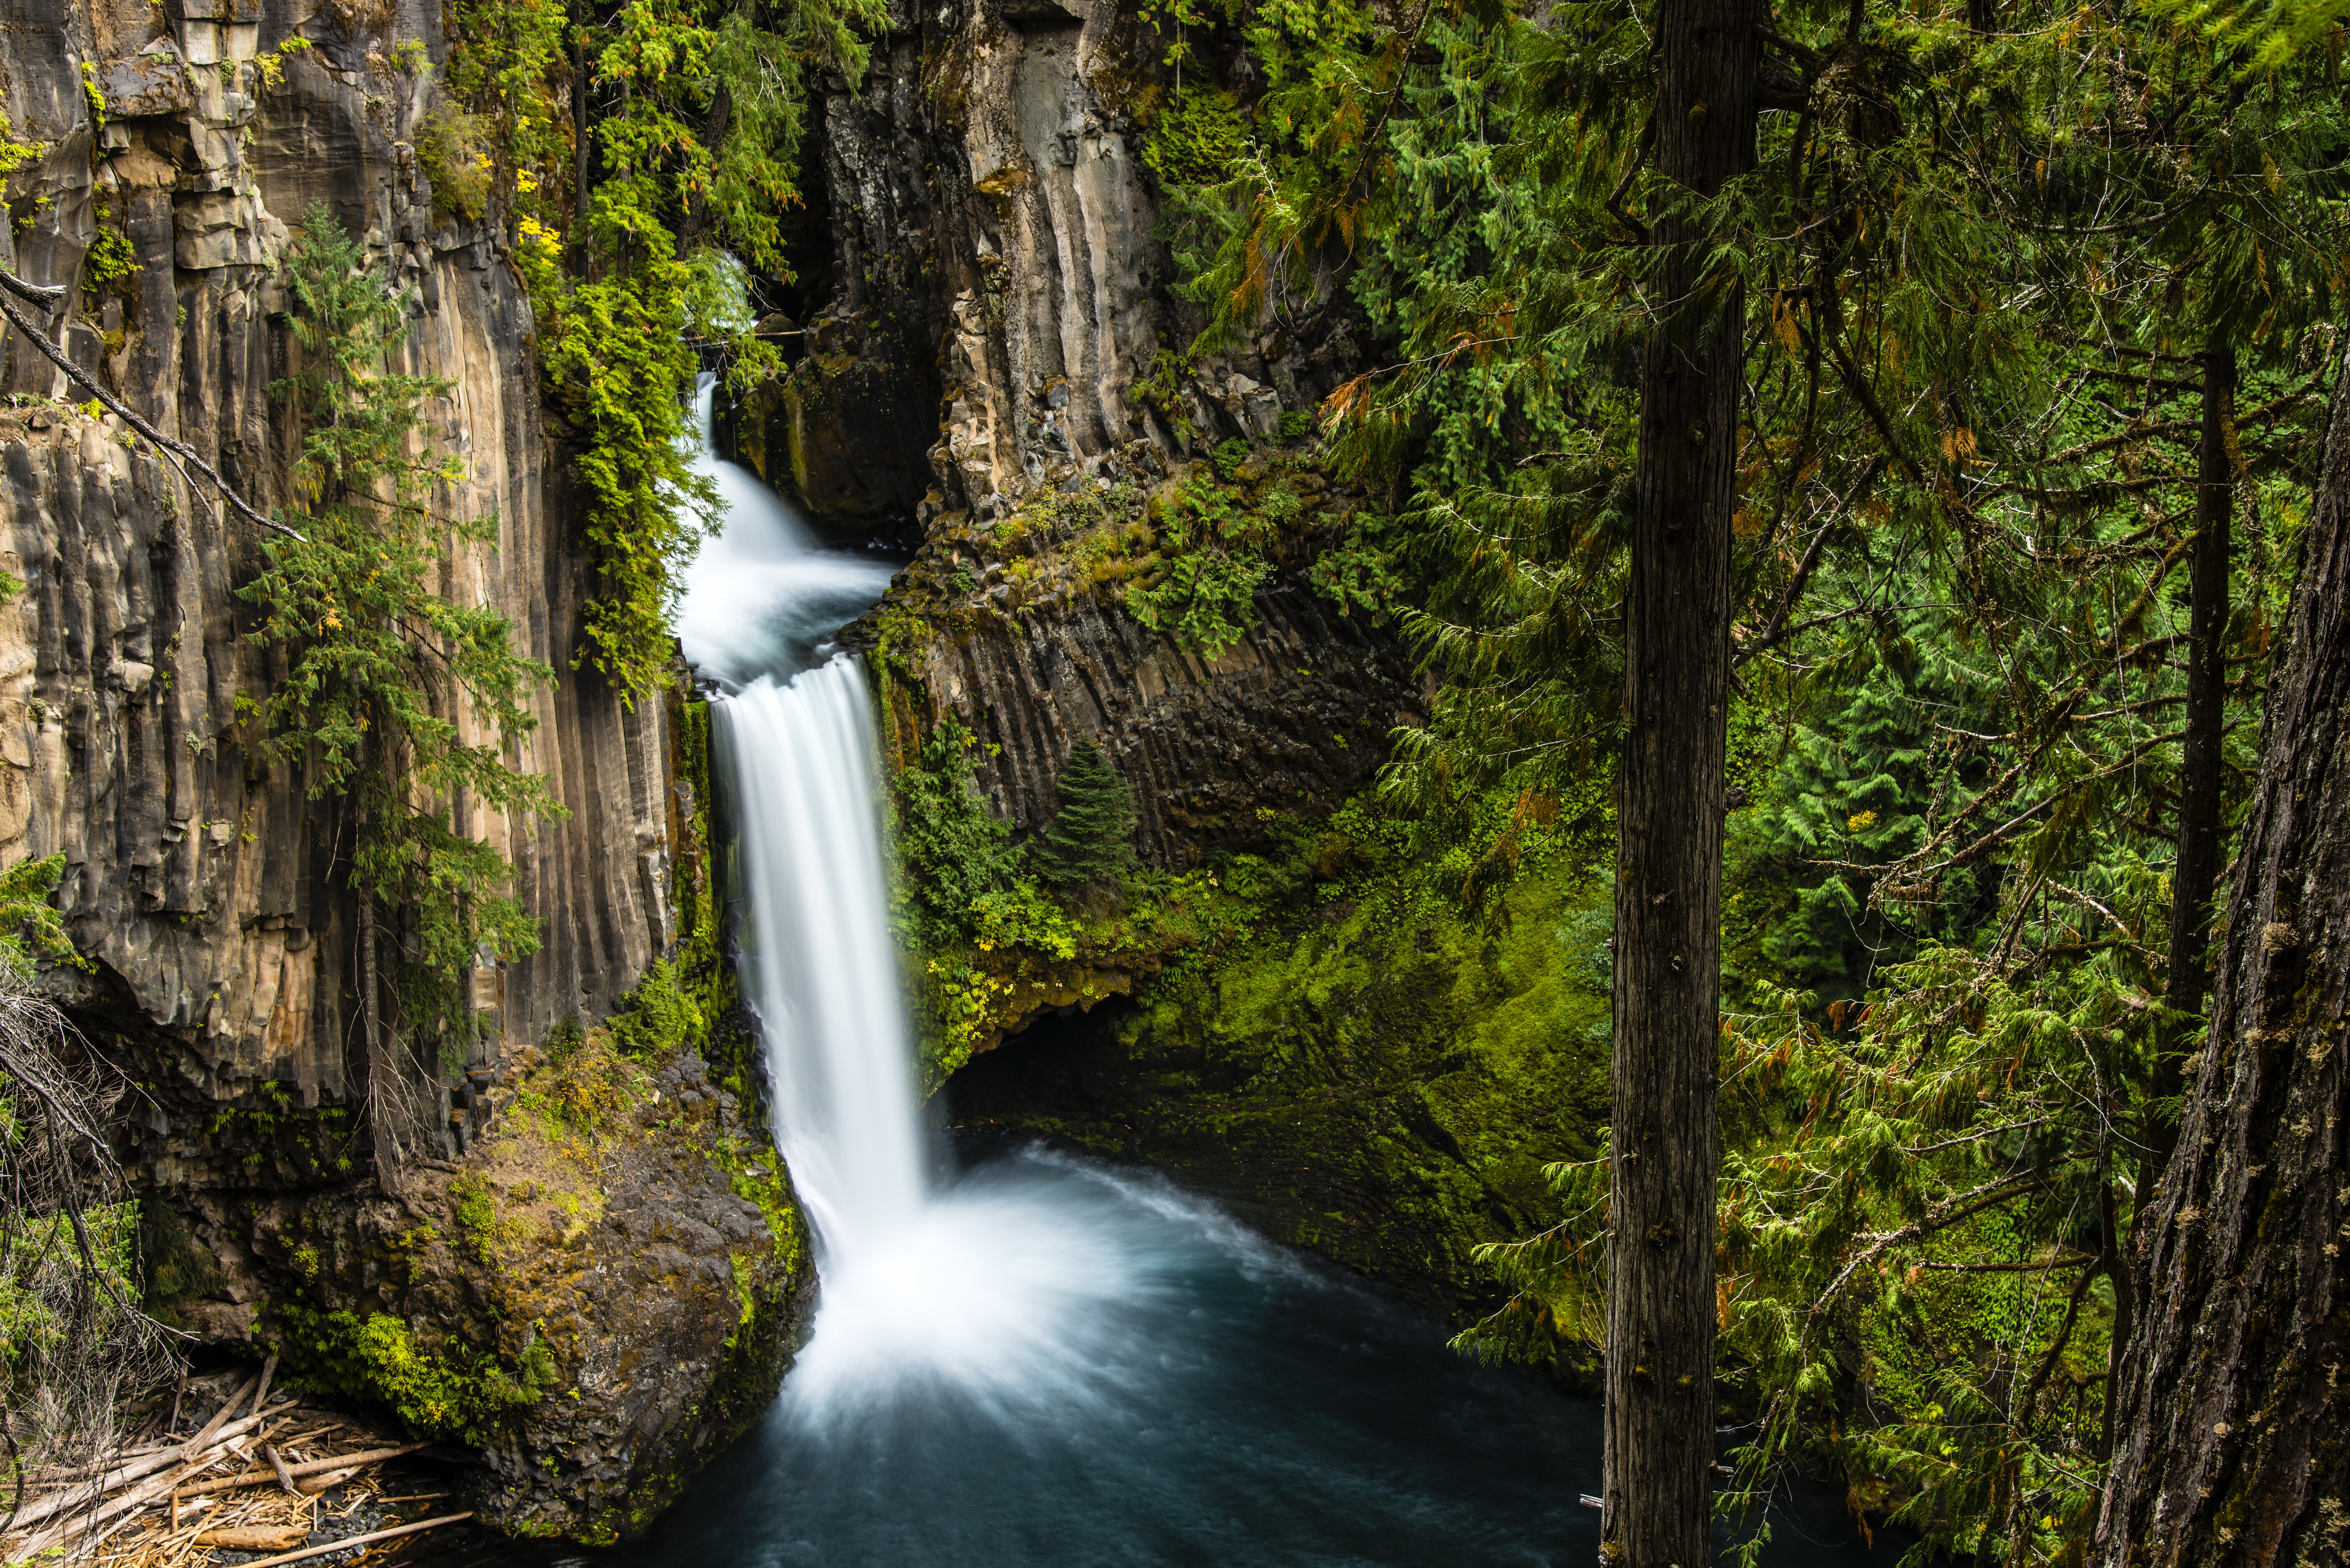
[[[491,1131],[397,1199],[197,1197],[179,1246],[219,1276],[179,1312],[477,1448],[456,1474],[484,1523],[611,1542],[768,1406],[815,1269],[780,1157],[696,1053],[592,1032],[519,1065]]]

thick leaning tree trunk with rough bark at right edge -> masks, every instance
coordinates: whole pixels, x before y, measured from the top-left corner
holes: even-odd
[[[2350,376],[2268,693],[2211,1027],[2141,1220],[2099,1561],[2350,1561]]]

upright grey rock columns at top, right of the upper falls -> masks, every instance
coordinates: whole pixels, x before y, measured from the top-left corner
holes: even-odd
[[[1189,355],[1203,317],[1168,289],[1142,162],[1173,85],[1163,56],[1130,0],[898,0],[865,89],[825,96],[832,289],[783,393],[832,409],[839,433],[806,435],[801,416],[792,461],[768,473],[841,449],[928,468],[926,522],[987,520],[1079,477],[1267,440],[1337,386],[1356,357],[1342,296]],[[888,421],[862,390],[881,383],[902,409]],[[928,421],[909,418],[916,390],[935,400]],[[827,484],[801,482],[811,510]]]

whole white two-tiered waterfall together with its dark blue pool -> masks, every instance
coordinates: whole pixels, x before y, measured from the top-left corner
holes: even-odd
[[[888,569],[703,461],[728,515],[684,644],[719,689],[745,994],[822,1298],[764,1425],[611,1561],[1591,1561],[1589,1403],[1159,1178],[933,1161],[865,677],[825,644]],[[1786,1523],[1767,1561],[1861,1561],[1812,1544],[1847,1535],[1831,1505]]]

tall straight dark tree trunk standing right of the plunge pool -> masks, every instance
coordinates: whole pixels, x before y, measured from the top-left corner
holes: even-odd
[[[1664,0],[1657,169],[1701,195],[1753,165],[1758,12]],[[1654,240],[1697,235],[1659,221]],[[1624,599],[1617,797],[1614,1159],[1607,1229],[1607,1481],[1600,1561],[1701,1568],[1713,1497],[1713,1178],[1720,1060],[1730,512],[1744,292],[1692,301],[1640,371],[1640,503]]]

